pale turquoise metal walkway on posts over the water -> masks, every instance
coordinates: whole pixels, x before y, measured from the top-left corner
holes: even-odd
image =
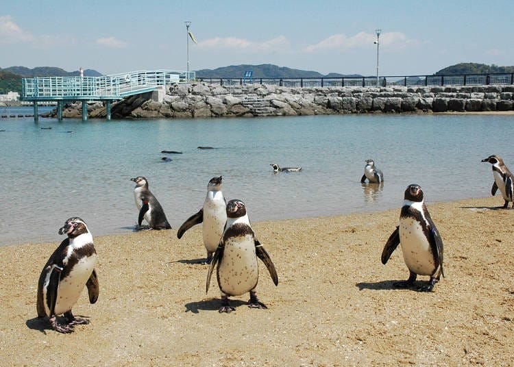
[[[61,119],[63,102],[82,101],[82,119],[86,120],[88,101],[106,101],[107,119],[110,120],[112,101],[193,80],[195,72],[169,70],[132,71],[101,77],[23,78],[21,100],[34,103],[35,121],[38,120],[38,102],[56,101],[58,119]]]

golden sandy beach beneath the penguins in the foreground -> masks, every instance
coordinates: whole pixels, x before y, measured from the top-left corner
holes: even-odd
[[[64,238],[56,223],[56,242],[0,247],[0,358],[4,366],[511,366],[514,211],[495,210],[502,203],[427,203],[445,245],[446,277],[430,293],[392,287],[408,277],[400,248],[380,262],[399,208],[254,223],[279,284],[260,263],[258,295],[269,309],[249,309],[245,294],[232,298],[231,314],[218,313],[215,277],[205,293],[201,227],[182,240],[176,229],[95,237],[99,301],[90,305],[84,290],[73,313],[90,325],[68,335],[36,318],[40,270]]]

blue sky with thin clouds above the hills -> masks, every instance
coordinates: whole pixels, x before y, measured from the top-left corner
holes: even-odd
[[[0,0],[0,68],[186,71],[189,44],[191,71],[368,76],[381,29],[380,75],[431,75],[460,62],[514,65],[513,19],[512,0]]]

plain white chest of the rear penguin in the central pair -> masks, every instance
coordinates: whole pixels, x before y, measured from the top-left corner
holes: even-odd
[[[207,197],[204,203],[204,220],[202,223],[202,234],[207,251],[216,251],[226,221],[227,212],[223,195],[215,196],[212,199]]]

